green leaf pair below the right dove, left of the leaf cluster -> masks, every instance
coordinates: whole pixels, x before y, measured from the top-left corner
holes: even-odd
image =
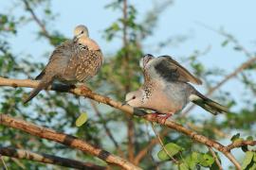
[[[176,155],[178,152],[184,150],[183,147],[174,144],[174,143],[169,143],[169,144],[165,144],[165,148],[168,151],[169,155],[171,157],[173,157],[174,155]],[[161,161],[167,161],[170,160],[169,155],[165,152],[164,149],[161,149],[158,153],[157,153],[157,157],[159,158],[159,160]]]

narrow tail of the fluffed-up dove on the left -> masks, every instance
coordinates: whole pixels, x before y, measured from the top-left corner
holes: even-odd
[[[46,89],[53,80],[53,76],[43,76],[42,80],[40,81],[39,85],[27,96],[27,98],[23,101],[26,104],[29,100],[31,100],[34,96],[36,96],[40,91]]]

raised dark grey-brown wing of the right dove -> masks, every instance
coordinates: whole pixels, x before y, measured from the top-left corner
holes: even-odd
[[[202,84],[202,81],[199,78],[192,76],[187,69],[170,56],[161,56],[156,59],[160,60],[158,60],[154,66],[155,72],[167,81],[183,81]]]

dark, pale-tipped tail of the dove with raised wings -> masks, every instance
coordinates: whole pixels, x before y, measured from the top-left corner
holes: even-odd
[[[210,111],[210,113],[216,115],[218,113],[229,112],[228,108],[210,100],[202,93],[195,92],[190,95],[190,101],[200,106],[201,108]]]

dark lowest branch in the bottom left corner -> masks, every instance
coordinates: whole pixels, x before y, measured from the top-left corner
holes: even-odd
[[[24,149],[16,149],[11,147],[0,147],[0,155],[17,158],[17,159],[25,159],[29,161],[39,161],[43,163],[51,163],[56,165],[61,165],[65,167],[71,167],[76,169],[88,169],[88,170],[100,170],[106,169],[106,167],[95,165],[93,163],[75,161],[70,159],[64,159],[61,157],[56,157],[48,154],[39,154],[35,152],[30,152]]]

